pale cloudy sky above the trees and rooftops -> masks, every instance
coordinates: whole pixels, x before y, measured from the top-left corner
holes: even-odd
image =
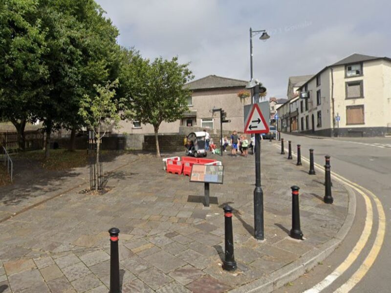
[[[352,53],[391,57],[389,0],[96,0],[120,30],[118,42],[150,59],[179,56],[195,79],[254,77],[286,97],[288,77],[313,74]]]

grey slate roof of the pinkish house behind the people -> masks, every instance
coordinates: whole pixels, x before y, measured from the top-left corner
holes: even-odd
[[[226,87],[244,87],[248,81],[242,81],[232,78],[221,77],[217,75],[208,75],[198,80],[185,84],[189,89],[211,89]]]

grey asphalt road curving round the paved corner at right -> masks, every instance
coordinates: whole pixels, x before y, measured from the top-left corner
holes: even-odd
[[[391,138],[310,138],[282,134],[292,141],[292,150],[300,144],[302,156],[309,158],[309,148],[314,149],[315,163],[325,164],[325,155],[331,156],[331,170],[348,180],[369,189],[381,201],[386,214],[385,238],[374,264],[361,281],[350,291],[354,293],[391,292]],[[264,143],[267,143],[265,141]],[[278,143],[278,142],[277,142]],[[294,158],[295,160],[295,158]],[[360,195],[356,195],[357,210],[354,224],[341,246],[322,264],[296,281],[287,284],[277,293],[299,293],[312,288],[334,271],[348,256],[359,239],[365,224],[366,206]],[[334,200],[338,200],[335,198]],[[373,201],[372,201],[373,203]],[[374,205],[373,205],[374,206]],[[373,229],[365,248],[353,265],[322,292],[331,293],[343,285],[361,266],[375,240],[379,224],[378,214],[373,208]],[[304,231],[305,234],[305,231]],[[347,291],[345,291],[347,292]]]

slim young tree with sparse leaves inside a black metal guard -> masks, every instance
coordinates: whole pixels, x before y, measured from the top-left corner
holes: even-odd
[[[96,139],[96,166],[99,166],[99,151],[102,143],[102,137],[106,135],[109,127],[119,127],[120,115],[118,109],[121,105],[115,102],[115,88],[118,86],[118,80],[108,83],[104,86],[94,84],[96,95],[91,97],[84,96],[80,101],[79,115],[88,126]],[[99,178],[99,167],[95,168],[96,178]],[[95,184],[95,190],[98,190],[98,184]]]

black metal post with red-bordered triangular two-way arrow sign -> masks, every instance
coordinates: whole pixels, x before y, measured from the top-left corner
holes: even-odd
[[[255,103],[258,103],[260,99],[259,84],[254,87],[254,94]],[[254,237],[258,240],[264,240],[263,190],[261,188],[261,133],[268,133],[269,126],[258,104],[252,105],[245,123],[244,132],[255,133]]]

